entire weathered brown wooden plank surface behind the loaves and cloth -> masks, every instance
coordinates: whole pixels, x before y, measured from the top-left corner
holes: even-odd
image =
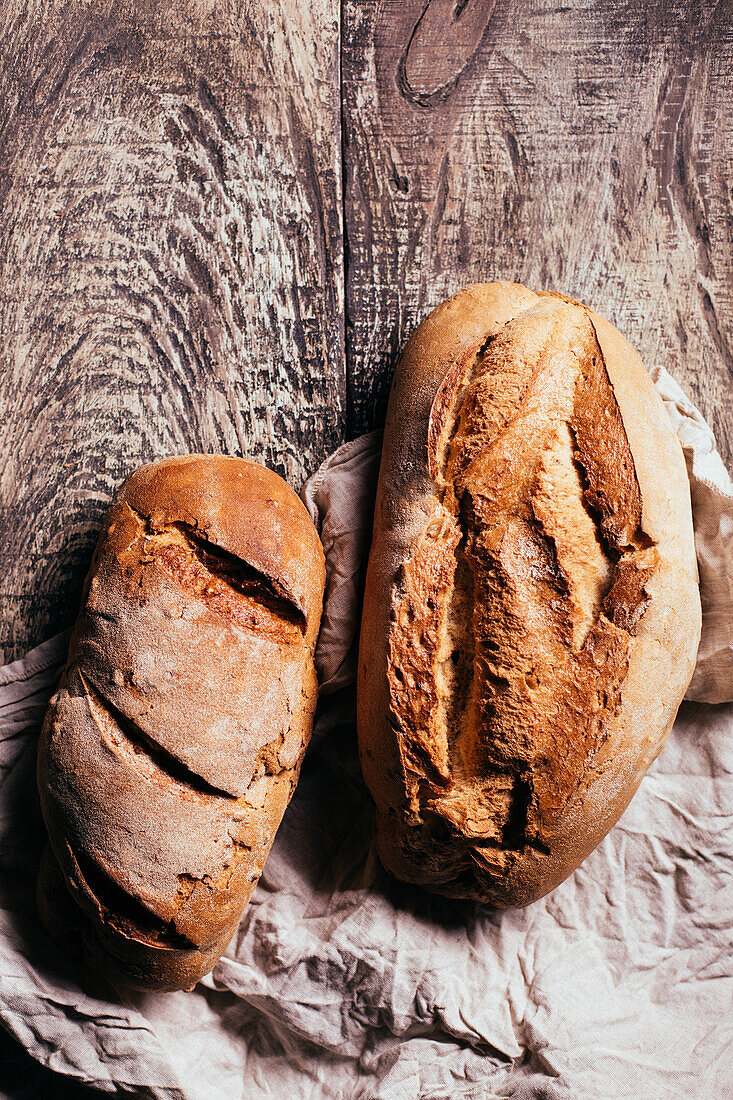
[[[726,0],[0,0],[0,658],[136,464],[297,487],[464,284],[592,304],[733,446]]]

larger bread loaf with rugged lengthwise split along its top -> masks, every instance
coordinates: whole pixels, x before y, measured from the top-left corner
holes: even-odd
[[[390,398],[359,656],[387,870],[495,906],[556,887],[661,749],[699,634],[685,462],[633,349],[507,283],[430,314]]]

